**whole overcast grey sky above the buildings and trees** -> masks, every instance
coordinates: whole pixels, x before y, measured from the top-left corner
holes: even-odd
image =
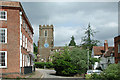
[[[118,35],[117,2],[22,2],[23,8],[34,28],[34,42],[39,38],[39,25],[54,25],[55,46],[69,44],[71,36],[77,45],[90,22],[96,30],[94,39],[108,40],[114,44]]]

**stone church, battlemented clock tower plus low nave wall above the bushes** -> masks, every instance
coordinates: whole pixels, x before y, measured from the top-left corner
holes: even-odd
[[[39,41],[37,62],[51,62],[55,52],[63,51],[65,46],[54,46],[54,27],[53,25],[39,26]],[[68,46],[69,50],[74,46]]]

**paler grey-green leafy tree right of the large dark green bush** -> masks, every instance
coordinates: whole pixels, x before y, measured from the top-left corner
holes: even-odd
[[[79,74],[85,73],[88,67],[87,65],[87,50],[80,48],[74,48],[70,52],[71,63],[77,67]]]

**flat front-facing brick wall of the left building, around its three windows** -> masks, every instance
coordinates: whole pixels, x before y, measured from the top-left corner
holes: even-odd
[[[7,51],[7,68],[2,73],[20,72],[20,17],[19,10],[2,9],[7,11],[7,21],[0,21],[0,28],[7,28],[7,43],[0,44],[0,51]],[[15,16],[16,15],[16,16]]]

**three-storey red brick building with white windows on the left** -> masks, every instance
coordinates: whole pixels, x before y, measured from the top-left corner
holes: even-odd
[[[20,2],[0,1],[0,76],[32,71],[33,28]]]

